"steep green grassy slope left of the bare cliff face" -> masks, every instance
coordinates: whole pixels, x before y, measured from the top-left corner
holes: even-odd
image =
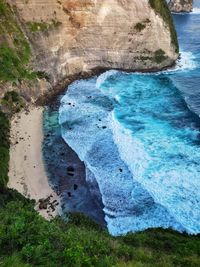
[[[28,41],[5,0],[0,0],[0,37],[0,83],[35,79],[36,73],[27,67],[31,57]]]

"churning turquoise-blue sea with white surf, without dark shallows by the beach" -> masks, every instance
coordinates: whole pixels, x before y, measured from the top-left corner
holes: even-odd
[[[151,227],[200,232],[199,9],[195,12],[174,15],[181,51],[174,69],[108,71],[73,83],[61,101],[63,138],[85,162],[87,180],[98,182],[113,235]]]

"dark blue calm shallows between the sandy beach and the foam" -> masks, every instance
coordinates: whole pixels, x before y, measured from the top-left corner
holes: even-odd
[[[63,213],[80,212],[105,225],[103,204],[97,185],[93,195],[86,182],[85,165],[64,142],[58,123],[58,109],[62,95],[58,95],[44,112],[43,157],[49,182],[61,199]]]

